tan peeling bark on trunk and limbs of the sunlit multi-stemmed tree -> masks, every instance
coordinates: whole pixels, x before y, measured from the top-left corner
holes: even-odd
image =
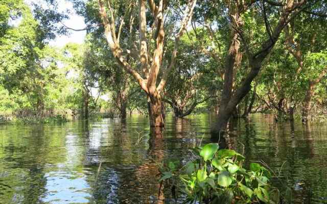
[[[149,60],[148,48],[147,48],[147,19],[146,19],[146,0],[139,0],[139,62],[143,70],[144,78],[132,66],[127,62],[126,57],[123,55],[123,49],[120,47],[119,41],[117,40],[115,29],[114,29],[114,16],[113,11],[108,2],[108,8],[110,18],[108,18],[105,4],[103,0],[99,0],[100,16],[102,17],[103,24],[105,27],[105,36],[111,52],[115,57],[116,61],[125,69],[125,71],[131,74],[137,81],[138,85],[146,92],[149,102],[149,118],[150,126],[155,127],[155,134],[159,133],[159,129],[164,127],[164,116],[162,115],[161,107],[161,96],[160,92],[164,89],[168,74],[171,69],[175,66],[175,58],[179,48],[179,40],[186,30],[186,26],[190,22],[193,14],[193,9],[196,4],[196,0],[189,1],[188,7],[184,10],[184,17],[181,21],[179,32],[175,36],[175,45],[173,54],[171,57],[170,64],[162,74],[161,80],[157,85],[158,73],[162,66],[162,57],[164,53],[164,42],[165,42],[165,30],[164,30],[164,9],[165,2],[163,0],[158,1],[158,5],[155,5],[153,0],[148,0],[150,11],[152,13],[153,22],[155,25],[153,29],[155,32],[156,47],[153,52],[152,60]],[[126,11],[128,12],[128,10]],[[110,20],[109,20],[110,19]],[[122,19],[124,20],[124,18]],[[121,23],[122,25],[122,23]],[[121,28],[120,28],[121,30]],[[151,31],[150,33],[153,33]],[[119,35],[120,36],[120,35]],[[152,37],[152,36],[150,36]],[[119,39],[119,38],[118,38]],[[131,53],[131,52],[130,52]],[[127,53],[128,54],[128,53]],[[160,127],[160,128],[157,128]]]

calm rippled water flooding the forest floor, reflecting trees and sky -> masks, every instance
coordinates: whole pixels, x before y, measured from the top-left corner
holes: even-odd
[[[209,142],[211,117],[167,118],[163,138],[148,119],[0,126],[0,203],[170,203],[158,200],[158,164],[187,159]],[[265,115],[233,123],[226,145],[273,170],[294,203],[327,203],[327,126],[274,123]],[[203,138],[203,139],[202,139]]]

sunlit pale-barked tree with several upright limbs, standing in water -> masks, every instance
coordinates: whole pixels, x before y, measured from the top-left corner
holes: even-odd
[[[99,0],[100,16],[105,28],[104,33],[106,35],[109,47],[120,66],[122,66],[127,73],[131,74],[134,80],[137,81],[138,85],[146,92],[149,101],[150,126],[155,127],[155,134],[160,134],[161,127],[164,126],[160,93],[166,85],[169,72],[175,65],[179,41],[186,29],[186,26],[192,18],[196,1],[189,1],[184,10],[184,16],[180,21],[180,28],[178,29],[177,34],[174,36],[174,49],[170,61],[164,59],[164,48],[166,40],[171,40],[170,37],[165,37],[165,34],[167,34],[167,30],[165,31],[165,21],[170,17],[168,14],[165,14],[165,12],[167,13],[169,11],[168,8],[171,5],[166,4],[166,2],[163,0],[159,1],[158,5],[156,5],[152,0],[148,1],[151,20],[147,20],[147,3],[145,0],[139,0],[139,47],[136,49],[133,47],[134,41],[132,38],[135,37],[135,31],[130,32],[130,39],[123,39],[125,42],[130,42],[128,44],[129,49],[124,52],[120,42],[121,32],[125,21],[127,21],[127,17],[130,17],[128,24],[130,25],[130,31],[132,31],[135,18],[133,11],[135,10],[135,7],[137,7],[136,3],[133,1],[129,3],[128,7],[125,8],[125,15],[120,18],[115,17],[114,9],[111,8],[110,2],[107,3],[108,4],[105,5],[102,0]],[[116,9],[118,8],[119,7]],[[109,17],[106,10],[109,11]],[[119,29],[116,29],[117,21],[119,21]],[[154,41],[152,39],[154,39]],[[153,57],[150,55],[151,52],[153,53]],[[136,58],[138,66],[141,67],[143,77],[140,72],[133,68],[133,66],[128,62],[127,58],[133,57],[132,55],[134,55]],[[168,63],[166,64],[166,62]],[[157,84],[160,68],[165,65],[167,65],[167,68],[162,74],[160,74],[161,79]]]

